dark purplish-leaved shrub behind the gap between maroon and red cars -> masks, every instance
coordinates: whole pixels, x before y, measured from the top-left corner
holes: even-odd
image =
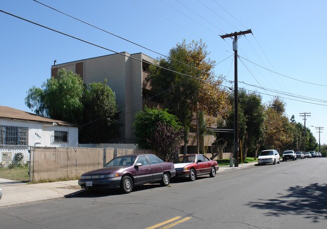
[[[176,152],[182,143],[183,128],[175,129],[168,123],[157,123],[154,138],[150,142],[156,150],[156,155],[166,162],[175,159]]]

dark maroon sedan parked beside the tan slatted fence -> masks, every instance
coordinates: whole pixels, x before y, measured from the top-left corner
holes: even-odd
[[[83,189],[120,188],[130,193],[133,187],[146,183],[170,183],[176,171],[174,164],[151,154],[126,155],[112,159],[103,168],[82,174],[78,184]]]

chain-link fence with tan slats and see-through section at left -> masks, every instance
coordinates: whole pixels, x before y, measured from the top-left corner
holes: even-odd
[[[0,145],[0,184],[27,181],[74,180],[102,168],[113,158],[153,154],[153,150],[86,147]]]

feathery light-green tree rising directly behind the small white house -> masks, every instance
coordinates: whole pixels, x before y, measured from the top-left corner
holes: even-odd
[[[77,124],[83,116],[84,91],[79,75],[60,69],[56,77],[42,84],[42,89],[30,88],[25,104],[37,115]]]

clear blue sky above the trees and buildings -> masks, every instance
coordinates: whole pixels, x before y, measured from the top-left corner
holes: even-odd
[[[59,34],[0,12],[1,106],[31,112],[27,91],[50,78],[54,60],[65,63],[113,52],[167,55],[181,43],[202,39],[214,72],[233,87],[232,39],[220,35],[251,29],[238,38],[238,87],[255,91],[263,103],[279,96],[285,114],[327,143],[327,1],[325,0],[38,0],[129,41],[105,33],[33,0],[2,0],[0,10],[94,43]],[[153,51],[150,51],[150,50]],[[156,53],[157,52],[157,53]],[[265,89],[263,89],[265,88]]]

